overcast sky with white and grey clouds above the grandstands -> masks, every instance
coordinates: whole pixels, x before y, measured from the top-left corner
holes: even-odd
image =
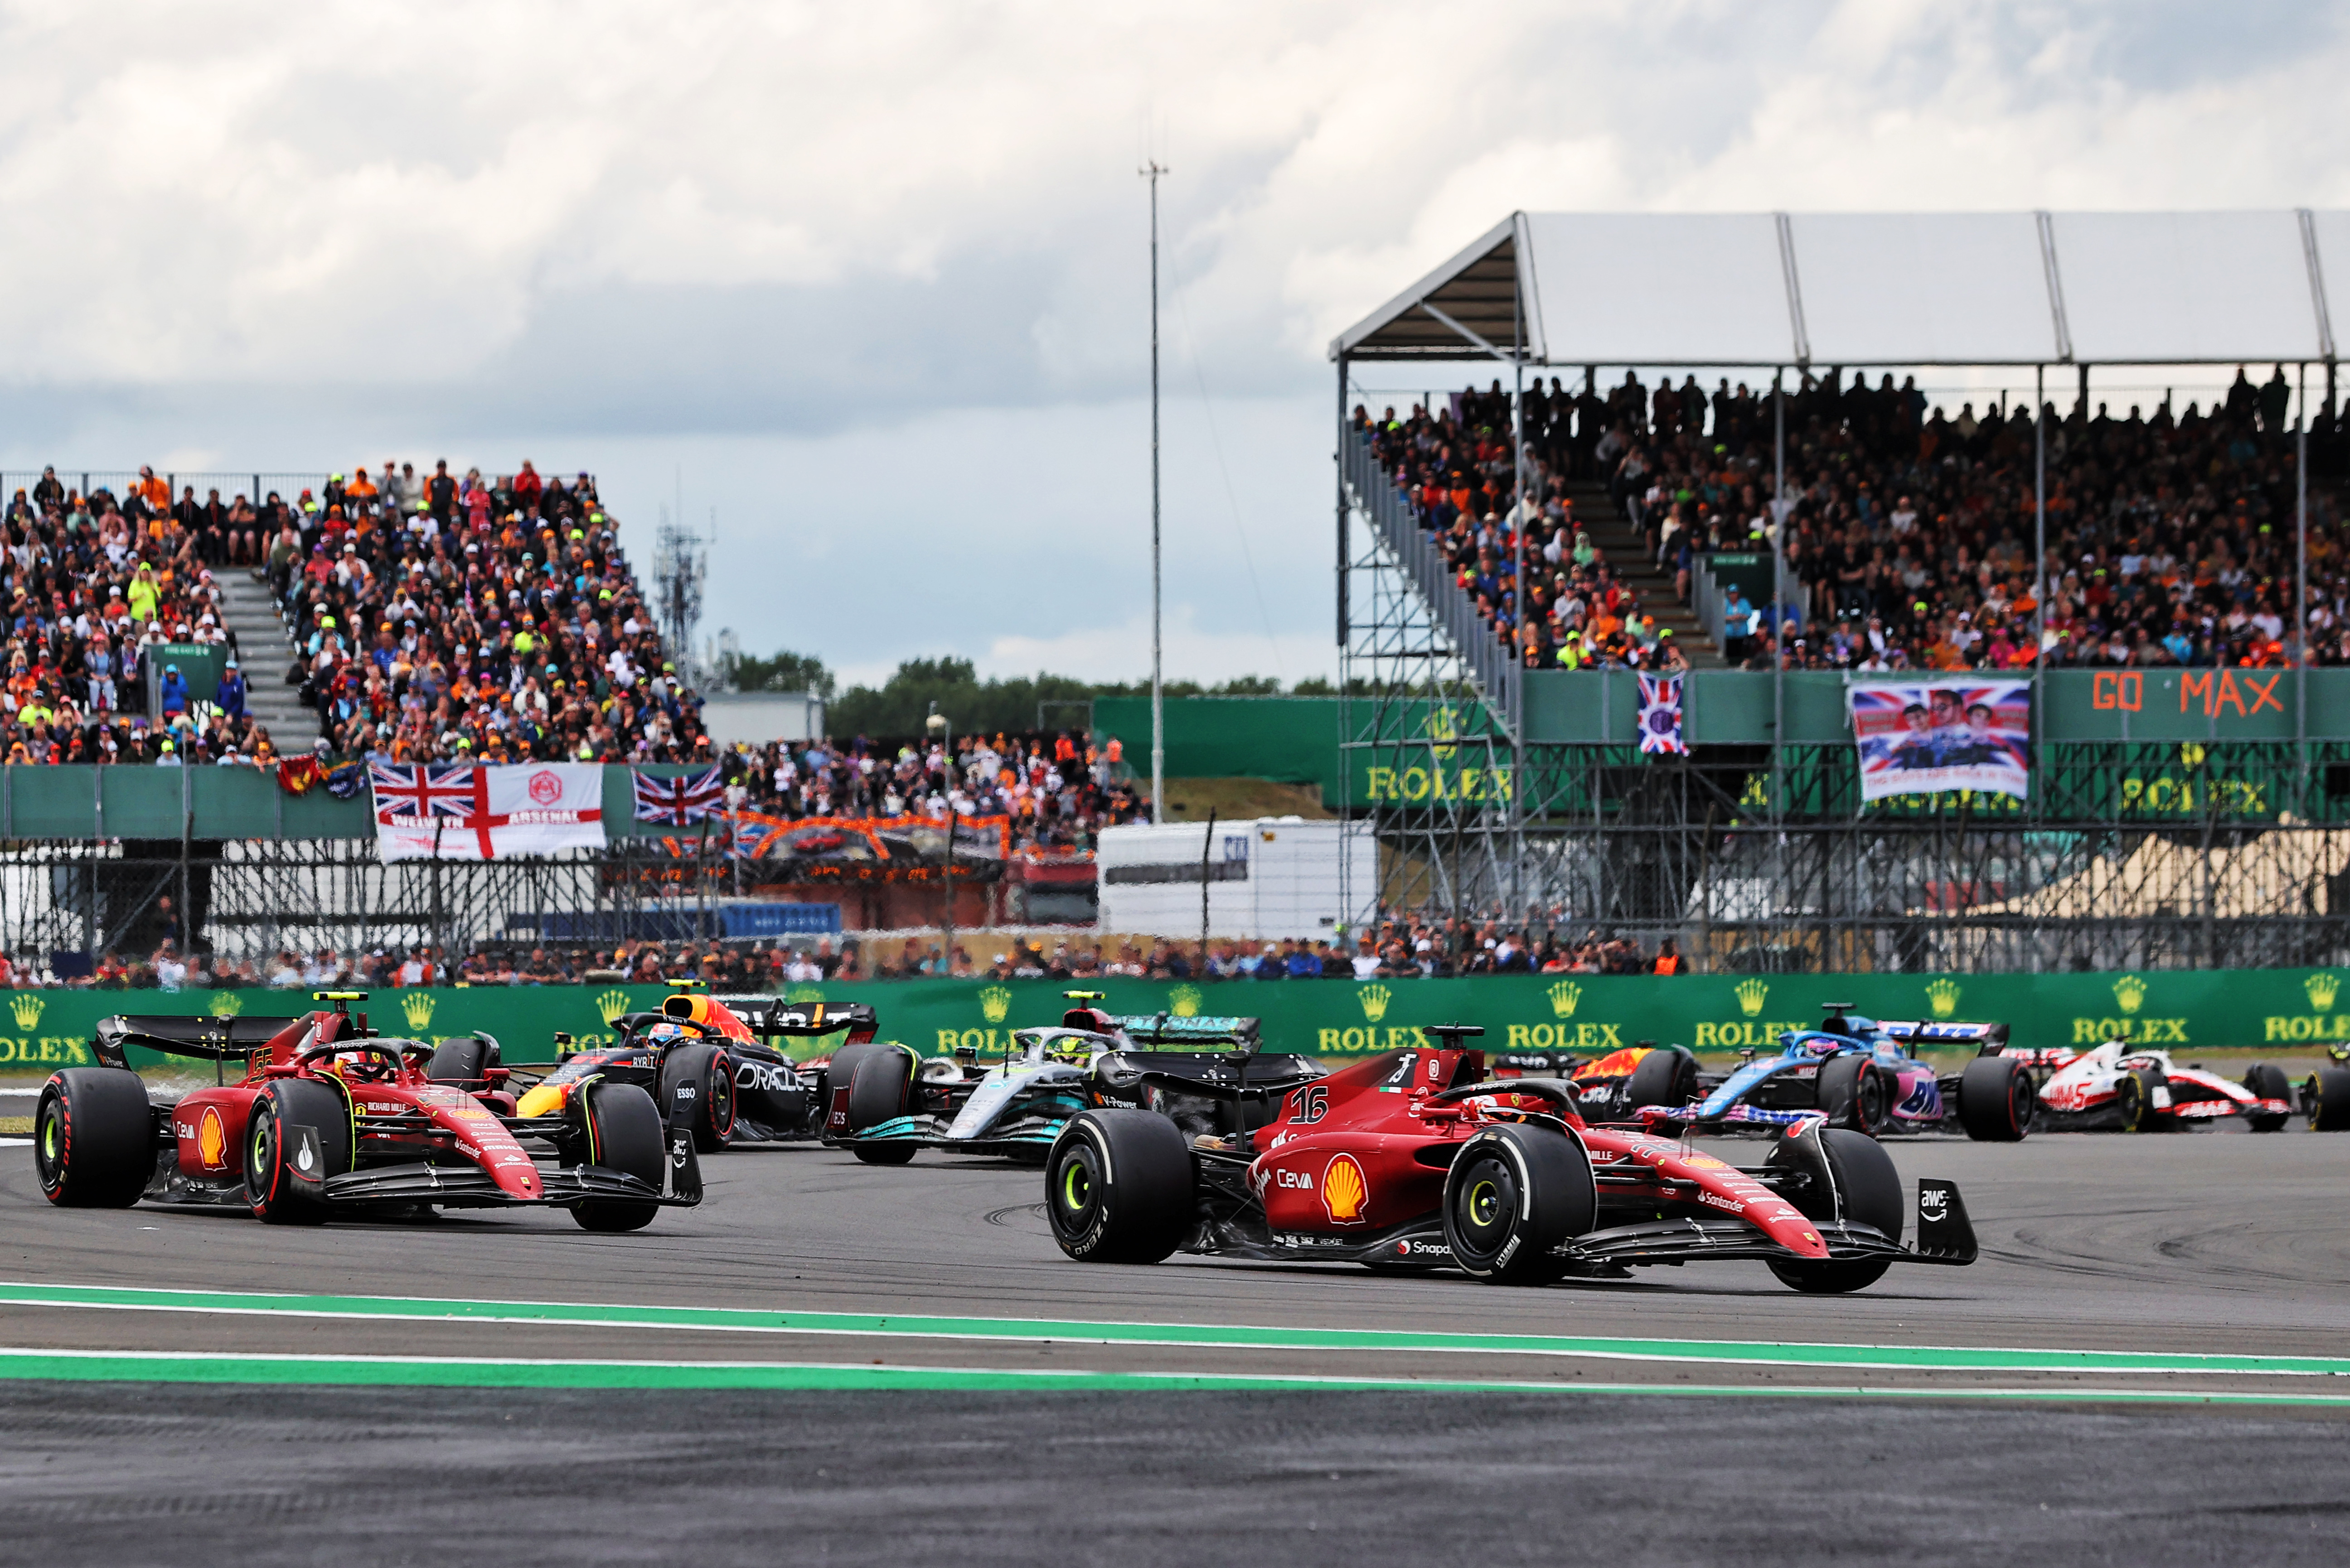
[[[682,488],[848,678],[1147,674],[1149,155],[1196,678],[1335,671],[1325,345],[1511,209],[2350,204],[2338,5],[0,19],[0,462]]]

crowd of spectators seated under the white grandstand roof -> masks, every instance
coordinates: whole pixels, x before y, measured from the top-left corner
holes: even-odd
[[[1570,495],[1605,486],[1683,601],[1713,552],[1784,549],[1784,606],[1725,594],[1725,655],[1755,669],[2026,669],[2289,664],[2296,627],[2296,432],[2284,369],[2242,369],[2209,408],[2164,399],[2115,415],[2075,401],[2047,423],[2047,554],[2035,561],[2035,439],[2026,404],[1929,408],[1915,380],[1828,371],[1786,397],[1786,493],[1767,387],[1598,392],[1558,380],[1523,408],[1516,493],[1509,394],[1356,408],[1382,469],[1441,535],[1459,582],[1530,667],[1678,664],[1671,638],[1591,542]],[[2341,430],[2310,423],[2312,477]],[[1516,556],[1525,530],[1525,624]],[[2310,484],[2308,662],[2350,662],[2343,507]],[[2040,592],[2047,613],[2040,615]]]

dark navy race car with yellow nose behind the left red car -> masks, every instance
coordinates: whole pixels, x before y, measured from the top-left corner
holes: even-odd
[[[555,1038],[562,1063],[531,1084],[522,1115],[555,1115],[578,1084],[632,1082],[667,1103],[679,1084],[693,1087],[693,1148],[705,1155],[731,1143],[813,1138],[825,1106],[825,1063],[799,1063],[778,1040],[848,1033],[841,1052],[874,1038],[874,1009],[825,1002],[785,1002],[771,995],[703,995],[677,991],[660,1012],[613,1019],[618,1040],[573,1049]]]

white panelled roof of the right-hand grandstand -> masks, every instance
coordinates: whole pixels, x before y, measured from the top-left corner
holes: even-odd
[[[2350,211],[1511,214],[1347,359],[1993,366],[2334,359]]]

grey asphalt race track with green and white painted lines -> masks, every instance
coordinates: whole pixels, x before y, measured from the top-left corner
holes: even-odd
[[[731,1150],[700,1209],[590,1237],[59,1211],[5,1148],[0,1528],[110,1566],[454,1535],[571,1563],[2341,1556],[2350,1138],[1889,1148],[1960,1183],[1983,1261],[1842,1298],[1758,1263],[1539,1291],[1086,1268],[1039,1171],[931,1155]]]

